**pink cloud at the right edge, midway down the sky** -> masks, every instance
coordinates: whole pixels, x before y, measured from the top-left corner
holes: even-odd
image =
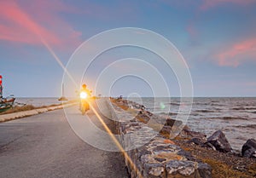
[[[217,55],[219,66],[239,66],[247,60],[256,61],[256,38],[232,45]]]

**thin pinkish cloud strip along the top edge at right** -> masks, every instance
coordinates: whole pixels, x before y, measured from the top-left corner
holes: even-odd
[[[222,3],[236,3],[239,5],[248,5],[251,3],[256,3],[256,1],[255,0],[202,0],[200,9],[202,10],[210,9]]]

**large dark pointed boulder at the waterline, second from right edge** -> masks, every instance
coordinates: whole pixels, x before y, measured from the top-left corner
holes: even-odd
[[[219,152],[232,151],[229,141],[221,130],[214,132],[212,136],[207,139],[207,143],[212,144]]]

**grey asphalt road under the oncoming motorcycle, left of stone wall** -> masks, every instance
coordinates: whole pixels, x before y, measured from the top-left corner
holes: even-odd
[[[90,119],[103,129],[93,112],[88,117],[81,116],[78,106],[68,109],[77,120]],[[104,120],[113,127],[107,118]],[[63,110],[56,110],[0,123],[0,177],[94,178],[128,174],[120,152],[102,151],[82,141]]]

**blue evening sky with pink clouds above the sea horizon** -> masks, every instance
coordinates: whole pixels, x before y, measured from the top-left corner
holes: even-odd
[[[3,0],[3,95],[60,96],[64,69],[79,45],[100,32],[137,27],[175,45],[188,66],[195,96],[256,96],[255,17],[256,0]],[[98,56],[83,82],[93,89],[90,83],[104,67],[129,57],[154,60],[151,64],[166,79],[171,95],[180,95],[175,73],[158,65],[159,56],[132,47]],[[151,96],[154,80],[126,76],[113,84],[110,94]],[[104,90],[99,94],[108,95]]]

